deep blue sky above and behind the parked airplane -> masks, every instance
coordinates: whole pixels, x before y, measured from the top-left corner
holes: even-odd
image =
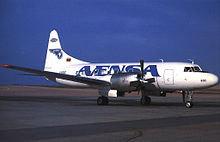
[[[43,69],[49,33],[90,62],[194,59],[220,77],[220,0],[1,0],[0,64]],[[0,68],[0,84],[48,84]]]

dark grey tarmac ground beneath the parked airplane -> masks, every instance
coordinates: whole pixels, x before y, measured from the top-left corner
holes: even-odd
[[[158,142],[220,140],[220,87],[196,91],[186,108],[179,93],[139,103],[137,92],[98,106],[98,91],[0,86],[2,142]]]

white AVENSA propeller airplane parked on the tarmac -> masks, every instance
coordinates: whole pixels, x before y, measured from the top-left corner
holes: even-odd
[[[166,96],[182,92],[186,108],[193,106],[193,91],[218,84],[216,75],[203,71],[199,65],[184,62],[90,63],[66,54],[56,30],[50,32],[44,70],[13,65],[1,67],[29,72],[59,84],[98,89],[98,105],[107,105],[109,97],[141,92],[140,103],[149,105],[150,96]]]

